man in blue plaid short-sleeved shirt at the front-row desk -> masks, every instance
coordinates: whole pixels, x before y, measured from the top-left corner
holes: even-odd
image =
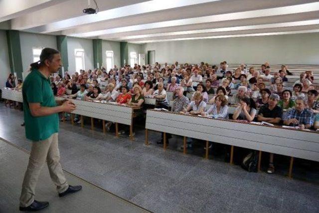
[[[297,97],[294,109],[287,112],[284,124],[288,126],[299,126],[300,129],[309,129],[313,125],[313,113],[306,108],[306,101]]]

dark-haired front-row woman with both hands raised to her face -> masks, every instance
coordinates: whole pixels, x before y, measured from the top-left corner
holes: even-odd
[[[233,119],[253,121],[257,113],[255,101],[252,98],[243,97],[240,99],[239,104],[235,109]]]

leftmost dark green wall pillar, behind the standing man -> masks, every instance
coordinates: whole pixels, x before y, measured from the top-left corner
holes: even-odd
[[[20,44],[20,32],[17,30],[6,30],[6,40],[8,43],[8,54],[11,73],[16,73],[17,78],[22,79],[22,56]]]

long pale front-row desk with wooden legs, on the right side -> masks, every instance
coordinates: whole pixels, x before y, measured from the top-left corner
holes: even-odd
[[[147,111],[145,128],[147,145],[148,130],[164,132],[164,149],[166,149],[165,133],[184,136],[184,153],[186,153],[186,137],[204,140],[206,147],[209,141],[231,145],[231,162],[234,146],[259,150],[259,169],[262,152],[290,156],[290,177],[294,157],[319,161],[319,132],[315,131],[261,126],[157,110]],[[208,149],[206,149],[206,158],[208,158]]]

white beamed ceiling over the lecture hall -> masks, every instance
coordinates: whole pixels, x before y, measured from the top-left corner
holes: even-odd
[[[319,31],[316,0],[96,1],[100,11],[86,15],[88,0],[0,0],[0,22],[15,30],[134,43]]]

